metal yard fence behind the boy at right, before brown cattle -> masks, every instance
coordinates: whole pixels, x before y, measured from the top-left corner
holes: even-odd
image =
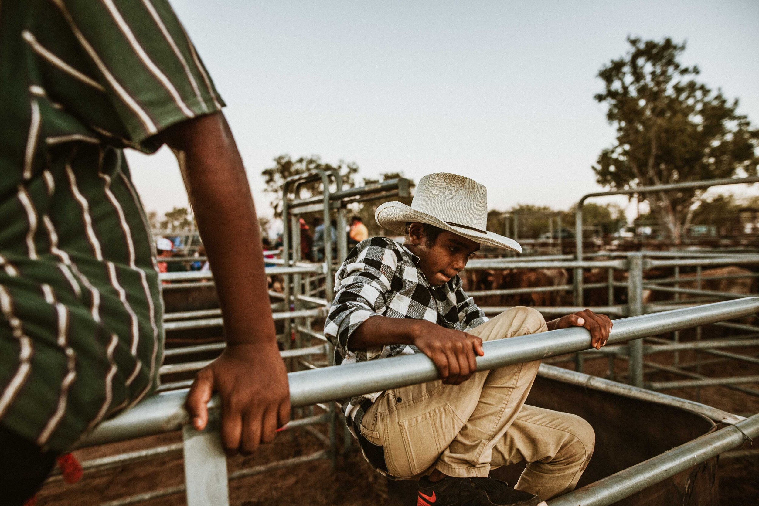
[[[540,292],[565,293],[572,290],[573,306],[536,306],[535,309],[547,316],[557,316],[575,311],[591,309],[596,313],[603,313],[613,318],[620,316],[638,316],[645,313],[669,310],[675,307],[691,306],[700,301],[732,300],[745,297],[748,294],[738,294],[729,291],[706,290],[702,284],[706,281],[736,280],[741,278],[753,279],[757,277],[754,272],[745,272],[739,275],[702,275],[704,267],[716,266],[757,266],[759,255],[734,254],[726,256],[719,251],[704,252],[631,252],[631,253],[594,253],[595,260],[570,260],[565,256],[553,260],[550,257],[531,259],[523,257],[519,259],[473,259],[468,265],[468,270],[480,269],[572,269],[575,279],[572,284],[555,284],[553,286],[529,287],[529,288],[499,288],[493,290],[468,291],[472,297],[487,297],[492,295],[518,295],[534,294]],[[606,258],[606,259],[598,259]],[[681,269],[695,269],[694,275],[683,277]],[[587,269],[605,269],[606,281],[597,283],[578,283],[583,277],[583,271]],[[672,269],[674,276],[657,280],[644,278],[644,272],[649,269]],[[615,281],[614,271],[625,272],[625,281]],[[696,288],[682,288],[681,284],[695,284]],[[671,285],[671,286],[670,286]],[[583,291],[606,288],[606,305],[585,306],[581,297]],[[617,303],[614,289],[622,288],[626,293],[626,303]],[[651,294],[663,292],[673,294],[673,300],[649,302],[646,299]],[[749,293],[750,294],[750,293]],[[688,298],[685,298],[688,297]],[[695,297],[695,298],[694,298]],[[487,315],[496,315],[507,310],[509,306],[480,306]],[[759,325],[746,323],[720,322],[716,325],[730,328],[738,335],[729,338],[702,340],[702,328],[695,329],[696,341],[680,342],[680,332],[673,333],[673,339],[651,338],[650,344],[644,344],[643,340],[631,341],[625,346],[604,347],[601,350],[609,357],[609,372],[614,375],[614,360],[628,360],[629,376],[632,385],[653,389],[664,388],[687,388],[694,386],[725,385],[726,388],[734,388],[744,393],[757,395],[759,391],[753,388],[740,386],[744,383],[757,382],[756,376],[733,376],[720,379],[708,378],[701,374],[702,363],[681,364],[679,352],[685,350],[697,350],[698,360],[701,354],[720,357],[720,360],[739,360],[745,363],[759,363],[759,359],[740,354],[726,352],[725,348],[755,346],[759,341]],[[675,364],[663,366],[658,363],[647,362],[644,356],[647,354],[674,352]],[[575,354],[575,370],[582,372],[584,369],[584,357],[587,354]],[[691,372],[682,366],[694,366],[697,371]],[[644,372],[668,371],[688,379],[682,382],[645,382]]]

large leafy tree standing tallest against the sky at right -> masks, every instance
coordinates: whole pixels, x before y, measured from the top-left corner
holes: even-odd
[[[756,174],[759,130],[730,102],[694,77],[698,67],[679,61],[685,43],[628,37],[631,50],[604,65],[606,119],[616,142],[593,170],[614,190]],[[644,193],[666,234],[679,244],[699,190]]]

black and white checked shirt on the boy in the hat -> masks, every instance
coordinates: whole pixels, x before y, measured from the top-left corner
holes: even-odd
[[[370,316],[425,319],[447,328],[469,331],[487,322],[485,313],[461,290],[455,276],[439,287],[430,286],[419,269],[419,257],[387,237],[357,244],[335,274],[335,300],[329,308],[324,335],[335,345],[335,364],[364,362],[413,354],[406,344],[348,350],[353,332]],[[358,395],[342,402],[354,435],[364,413],[383,392]]]

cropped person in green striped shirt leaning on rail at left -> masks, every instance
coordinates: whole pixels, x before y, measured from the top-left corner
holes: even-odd
[[[181,152],[213,263],[227,346],[197,374],[191,423],[218,391],[227,451],[271,441],[290,403],[260,227],[171,6],[3,0],[0,34],[0,502],[24,504],[58,455],[159,385],[159,269],[127,147]]]

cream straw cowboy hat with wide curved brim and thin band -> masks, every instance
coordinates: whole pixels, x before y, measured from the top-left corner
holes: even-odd
[[[487,189],[473,179],[436,172],[421,178],[411,207],[386,202],[374,213],[379,226],[406,233],[406,223],[427,223],[480,244],[518,251],[517,241],[487,231]]]

